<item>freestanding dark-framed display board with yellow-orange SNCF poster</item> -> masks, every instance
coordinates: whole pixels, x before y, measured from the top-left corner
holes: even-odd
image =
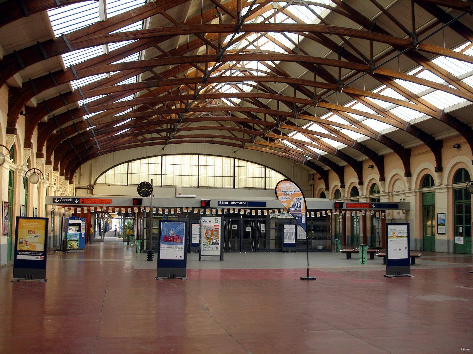
[[[17,217],[13,280],[46,281],[47,218]]]

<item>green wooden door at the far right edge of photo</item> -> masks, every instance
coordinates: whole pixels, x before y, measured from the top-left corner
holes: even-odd
[[[465,188],[454,189],[455,253],[472,253],[472,204]],[[457,240],[458,237],[463,237]],[[457,243],[459,242],[459,243]],[[463,242],[463,243],[461,243]]]

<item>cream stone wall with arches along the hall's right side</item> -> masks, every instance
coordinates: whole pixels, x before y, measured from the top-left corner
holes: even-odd
[[[453,145],[459,143],[459,149],[453,149]],[[455,172],[464,168],[469,171],[473,177],[472,153],[468,143],[460,136],[455,135],[443,140],[442,147],[442,167],[443,171],[435,172],[435,158],[433,153],[425,146],[419,145],[411,148],[411,172],[412,177],[404,177],[404,167],[401,159],[394,153],[384,155],[385,181],[379,181],[379,173],[374,167],[368,169],[373,164],[371,160],[363,161],[364,184],[359,186],[359,200],[369,201],[369,190],[373,183],[377,183],[380,188],[379,197],[381,202],[399,202],[405,201],[411,203],[411,209],[406,211],[405,216],[397,215],[397,211],[387,210],[391,219],[386,218],[386,222],[397,220],[397,222],[406,221],[410,223],[411,228],[411,248],[415,250],[422,249],[422,193],[435,192],[435,214],[447,213],[447,234],[437,235],[435,250],[437,252],[454,252],[454,210],[453,210],[453,189],[463,187],[464,184],[452,185]],[[422,181],[426,174],[430,174],[435,185],[431,188],[422,189]],[[315,174],[314,192],[318,195],[325,189],[322,180],[318,180],[318,174]],[[345,185],[346,194],[342,192],[342,199],[350,199],[350,190],[358,184],[355,171],[350,167],[345,167]],[[325,194],[333,199],[333,193],[340,186],[338,176],[332,171],[329,172],[329,190]],[[369,235],[371,233],[370,216],[366,218],[366,235],[369,244]],[[346,236],[351,236],[351,220],[346,218]],[[360,236],[362,234],[362,223],[360,222]]]

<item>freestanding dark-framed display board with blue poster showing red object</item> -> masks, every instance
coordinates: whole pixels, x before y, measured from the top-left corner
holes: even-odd
[[[185,221],[159,221],[158,274],[156,279],[186,277]]]

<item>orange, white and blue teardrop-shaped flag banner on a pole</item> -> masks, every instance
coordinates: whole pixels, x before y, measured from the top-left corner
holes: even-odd
[[[299,186],[289,181],[289,179],[282,179],[278,182],[274,191],[276,198],[307,233],[306,198],[304,198]]]

